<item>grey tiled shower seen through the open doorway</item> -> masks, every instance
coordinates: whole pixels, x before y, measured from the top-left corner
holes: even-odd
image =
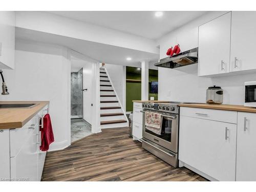
[[[83,118],[82,69],[71,73],[71,119]]]

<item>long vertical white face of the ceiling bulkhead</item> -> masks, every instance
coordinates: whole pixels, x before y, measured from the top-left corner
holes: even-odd
[[[17,11],[16,27],[159,54],[155,40],[40,11]]]

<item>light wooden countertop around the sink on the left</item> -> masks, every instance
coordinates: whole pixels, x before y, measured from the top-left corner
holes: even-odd
[[[49,101],[0,101],[0,104],[36,103],[33,108],[0,109],[0,129],[20,128],[34,117]]]

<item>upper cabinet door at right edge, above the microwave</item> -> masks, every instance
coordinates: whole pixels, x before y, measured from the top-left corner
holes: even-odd
[[[232,11],[230,71],[256,69],[255,21],[255,11]]]

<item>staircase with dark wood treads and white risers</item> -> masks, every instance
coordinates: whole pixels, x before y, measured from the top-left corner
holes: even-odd
[[[101,129],[129,126],[129,121],[116,94],[108,72],[100,68]]]

